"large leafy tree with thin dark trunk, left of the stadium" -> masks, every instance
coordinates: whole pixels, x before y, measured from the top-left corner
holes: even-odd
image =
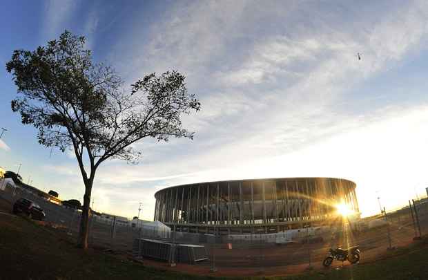
[[[17,86],[12,111],[38,129],[39,143],[75,153],[85,185],[79,246],[88,246],[90,194],[99,165],[108,159],[137,163],[144,138],[193,139],[182,127],[182,115],[200,110],[188,94],[184,75],[151,73],[123,88],[106,63],[93,63],[85,38],[67,30],[36,50],[14,50],[6,64]]]

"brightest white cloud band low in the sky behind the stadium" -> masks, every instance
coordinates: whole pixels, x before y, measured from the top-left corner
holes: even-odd
[[[296,138],[308,138],[306,145],[299,144],[285,152],[275,151],[278,145],[283,145],[282,139],[273,139],[269,144],[262,139],[266,136],[262,136],[153,165],[144,162],[137,166],[102,165],[93,188],[95,209],[130,217],[137,214],[142,202],[143,217],[151,219],[154,194],[164,187],[213,180],[295,176],[349,178],[358,185],[360,210],[364,214],[378,210],[376,191],[380,191],[382,204],[392,209],[414,197],[415,186],[428,183],[424,170],[424,160],[428,157],[427,112],[428,104],[414,108],[391,106],[334,122],[325,129],[315,125],[316,129],[294,134]],[[47,167],[48,171],[64,174],[61,183],[53,185],[61,185],[61,191],[72,189],[76,193],[72,196],[79,198],[84,187],[78,171],[72,169]],[[188,170],[195,172],[177,174]],[[398,189],[400,192],[396,192]]]

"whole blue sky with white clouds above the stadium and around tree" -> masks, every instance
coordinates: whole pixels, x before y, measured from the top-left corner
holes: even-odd
[[[72,151],[42,147],[10,110],[5,66],[65,29],[126,87],[175,69],[202,103],[183,119],[193,140],[142,140],[139,165],[101,165],[99,212],[131,218],[142,203],[153,220],[159,189],[249,178],[347,178],[363,216],[378,197],[396,209],[426,195],[427,1],[2,1],[0,166],[81,200]]]

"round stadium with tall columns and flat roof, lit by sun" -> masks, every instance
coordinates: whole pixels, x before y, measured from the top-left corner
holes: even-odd
[[[179,185],[155,194],[155,221],[204,234],[282,232],[328,225],[335,205],[358,213],[356,184],[340,178],[268,178]]]

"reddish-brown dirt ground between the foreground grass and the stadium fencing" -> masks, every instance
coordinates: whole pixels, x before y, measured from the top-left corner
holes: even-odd
[[[389,228],[391,247],[405,248],[413,242],[414,225],[409,215],[391,217]],[[428,216],[421,218],[422,230],[428,229]],[[423,232],[423,231],[422,231]],[[387,227],[378,227],[366,232],[349,232],[344,236],[334,236],[329,241],[317,244],[291,243],[288,245],[275,244],[239,244],[233,243],[232,249],[226,244],[206,245],[210,261],[202,261],[195,265],[177,263],[171,268],[168,263],[145,259],[146,265],[176,270],[190,274],[212,276],[283,276],[300,274],[308,270],[328,271],[351,266],[348,261],[333,261],[330,268],[322,266],[329,248],[346,248],[359,245],[362,250],[359,264],[371,263],[385,259],[389,254],[389,239]],[[391,250],[393,252],[393,250]],[[210,272],[215,255],[216,272]],[[358,264],[357,264],[358,265]]]

